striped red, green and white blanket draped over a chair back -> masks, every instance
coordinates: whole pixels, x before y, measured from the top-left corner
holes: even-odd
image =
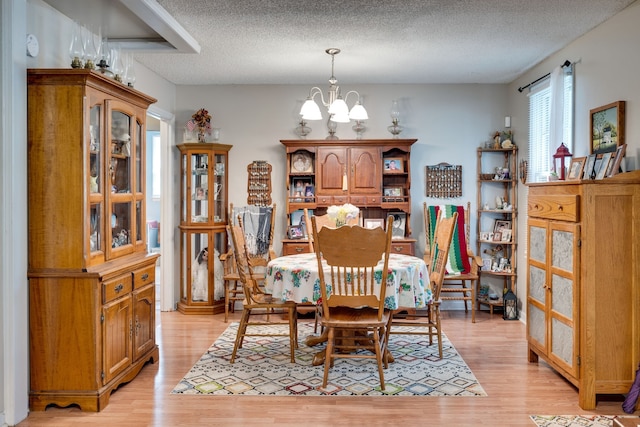
[[[447,274],[467,274],[471,271],[471,264],[467,256],[467,237],[464,226],[464,206],[456,205],[432,205],[429,206],[429,242],[433,241],[433,231],[436,228],[438,211],[442,210],[443,218],[450,218],[454,212],[458,212],[457,226],[451,239],[449,259],[447,260]]]

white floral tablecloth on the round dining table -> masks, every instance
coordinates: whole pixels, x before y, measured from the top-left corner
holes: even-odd
[[[378,268],[382,269],[382,261]],[[391,254],[389,269],[385,307],[391,310],[422,308],[431,302],[433,294],[427,267],[421,258]],[[328,267],[325,272],[328,272]],[[320,299],[318,261],[314,253],[275,258],[267,265],[266,273],[266,291],[274,298],[298,303],[316,303]]]

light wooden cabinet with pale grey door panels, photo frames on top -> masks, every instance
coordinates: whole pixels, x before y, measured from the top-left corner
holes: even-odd
[[[640,362],[640,171],[528,187],[529,361],[595,409],[629,391]]]

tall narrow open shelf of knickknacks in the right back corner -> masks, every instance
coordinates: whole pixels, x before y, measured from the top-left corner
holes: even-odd
[[[478,148],[477,252],[483,259],[478,286],[494,284],[497,299],[476,289],[478,310],[502,307],[503,293],[516,292],[518,225],[518,147]],[[480,284],[481,283],[481,284]]]

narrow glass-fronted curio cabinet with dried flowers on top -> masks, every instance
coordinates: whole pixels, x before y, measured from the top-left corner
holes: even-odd
[[[184,314],[224,312],[227,166],[231,145],[183,143],[180,150],[180,301]]]

